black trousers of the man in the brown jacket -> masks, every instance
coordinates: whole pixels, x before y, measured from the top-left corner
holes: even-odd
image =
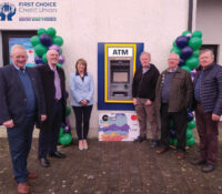
[[[173,120],[174,129],[176,131],[178,146],[179,151],[185,151],[186,142],[186,110],[181,110],[180,112],[168,112],[168,104],[161,104],[161,144],[164,147],[169,147],[170,137],[170,119]]]

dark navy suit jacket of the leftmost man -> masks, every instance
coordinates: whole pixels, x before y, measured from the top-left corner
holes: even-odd
[[[37,100],[36,122],[40,124],[41,115],[46,114],[44,95],[39,72],[33,68],[26,68],[31,80]],[[19,78],[18,70],[12,65],[0,69],[0,124],[13,120],[16,126],[20,126],[27,111],[27,95]]]

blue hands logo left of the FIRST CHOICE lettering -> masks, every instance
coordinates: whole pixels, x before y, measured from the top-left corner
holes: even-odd
[[[12,17],[16,12],[17,8],[14,4],[9,2],[0,3],[0,21],[12,21]]]

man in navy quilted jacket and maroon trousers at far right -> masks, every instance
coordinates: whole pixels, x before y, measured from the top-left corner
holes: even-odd
[[[202,50],[194,79],[195,121],[200,137],[200,156],[192,164],[204,164],[202,172],[215,169],[219,149],[219,121],[222,114],[222,68],[211,50]]]

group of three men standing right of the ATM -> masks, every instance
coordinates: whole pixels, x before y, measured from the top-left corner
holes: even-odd
[[[151,147],[158,154],[169,147],[170,122],[176,131],[176,157],[185,156],[188,110],[195,112],[196,129],[200,137],[200,155],[191,161],[203,165],[202,172],[215,169],[219,146],[219,121],[222,114],[222,67],[214,63],[214,54],[205,49],[200,52],[200,65],[192,82],[188,71],[179,67],[180,57],[170,53],[168,69],[161,74],[151,64],[151,54],[142,52],[142,67],[135,71],[132,83],[133,104],[135,106],[140,135],[134,142],[147,141],[147,121],[151,125]],[[160,126],[158,119],[160,118]],[[160,145],[158,133],[160,129]]]

